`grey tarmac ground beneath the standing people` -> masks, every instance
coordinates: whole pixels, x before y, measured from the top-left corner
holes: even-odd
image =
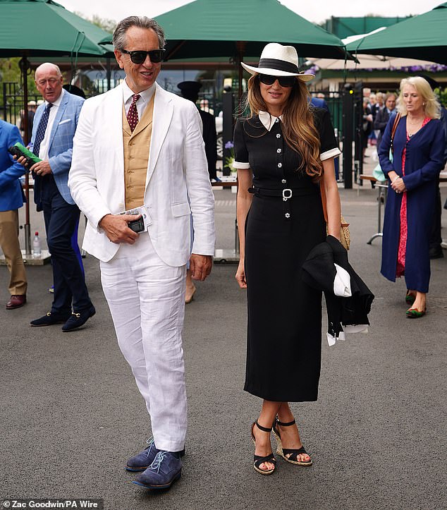
[[[233,248],[235,195],[215,195],[218,247]],[[116,343],[98,263],[87,256],[97,314],[82,329],[29,326],[51,306],[49,265],[27,268],[25,307],[0,306],[0,500],[92,497],[107,510],[445,509],[447,253],[431,263],[429,313],[408,320],[405,282],[381,277],[381,239],[366,243],[377,227],[376,190],[342,189],[341,197],[350,262],[376,298],[369,334],[350,334],[333,347],[323,341],[319,400],[293,404],[312,467],[278,459],[268,477],[252,468],[250,424],[260,401],[242,389],[245,291],[235,265],[214,265],[186,308],[182,478],[169,492],[130,483],[123,465],[145,446],[149,420]],[[39,221],[33,213],[32,230]],[[444,210],[444,238],[446,222]],[[0,281],[4,303],[4,266]]]

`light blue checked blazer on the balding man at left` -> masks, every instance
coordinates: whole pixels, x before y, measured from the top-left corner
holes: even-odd
[[[68,171],[71,167],[71,156],[73,154],[73,136],[75,135],[76,126],[78,126],[79,114],[83,102],[84,99],[82,99],[82,97],[62,90],[62,101],[57,109],[49,140],[49,166],[51,166],[54,181],[56,182],[56,186],[62,198],[68,202],[68,204],[72,205],[75,201],[71,197],[70,190],[67,186]],[[45,103],[41,104],[36,110],[32,126],[30,150],[32,150],[32,146],[34,145],[37,128],[39,127],[39,122],[44,110]]]

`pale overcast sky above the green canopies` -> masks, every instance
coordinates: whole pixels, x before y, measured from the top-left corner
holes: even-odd
[[[119,21],[127,16],[159,16],[188,4],[188,0],[55,0],[69,11]],[[240,0],[244,1],[244,0]],[[362,17],[370,14],[384,17],[422,14],[442,4],[442,0],[281,0],[281,4],[314,23],[336,17]],[[237,14],[235,13],[235,16]]]

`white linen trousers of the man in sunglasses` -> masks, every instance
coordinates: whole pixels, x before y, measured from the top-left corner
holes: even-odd
[[[149,234],[100,262],[118,345],[146,402],[158,449],[185,447],[187,406],[182,331],[186,266],[166,265]]]

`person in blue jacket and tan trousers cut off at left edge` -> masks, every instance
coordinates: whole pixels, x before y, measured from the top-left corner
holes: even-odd
[[[11,298],[6,310],[20,308],[26,303],[27,279],[18,241],[18,210],[25,202],[19,177],[25,169],[15,162],[8,147],[22,143],[16,126],[0,121],[0,248],[10,272],[8,291]]]

